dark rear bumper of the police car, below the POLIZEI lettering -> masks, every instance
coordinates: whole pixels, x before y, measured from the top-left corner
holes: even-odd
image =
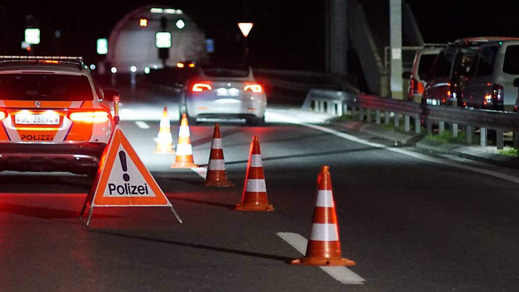
[[[89,174],[105,148],[105,143],[0,143],[0,170]]]

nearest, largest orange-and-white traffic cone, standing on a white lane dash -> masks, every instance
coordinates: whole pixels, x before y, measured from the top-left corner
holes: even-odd
[[[340,254],[339,228],[329,166],[322,167],[317,180],[319,189],[306,255],[292,263],[308,266],[353,266],[354,261],[343,258]]]

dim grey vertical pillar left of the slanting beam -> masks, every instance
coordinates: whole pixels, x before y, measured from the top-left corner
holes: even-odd
[[[326,71],[348,73],[348,1],[326,1]]]

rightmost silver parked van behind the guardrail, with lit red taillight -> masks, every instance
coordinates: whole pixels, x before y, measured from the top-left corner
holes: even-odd
[[[477,49],[474,76],[462,88],[462,105],[512,111],[517,98],[519,38],[490,42]]]

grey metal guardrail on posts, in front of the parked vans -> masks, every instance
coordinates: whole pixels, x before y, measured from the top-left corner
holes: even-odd
[[[372,122],[372,112],[375,112],[375,123],[380,124],[381,114],[384,114],[384,123],[389,124],[393,117],[395,127],[400,126],[400,117],[403,117],[404,130],[411,131],[411,118],[414,120],[414,130],[420,134],[421,121],[425,121],[427,134],[432,135],[433,123],[438,123],[439,134],[445,131],[445,123],[450,125],[453,137],[458,136],[459,126],[467,133],[467,143],[472,144],[474,129],[480,129],[480,144],[488,143],[487,131],[496,130],[497,148],[503,149],[503,132],[513,132],[514,147],[519,141],[519,114],[491,110],[466,109],[444,105],[420,104],[413,101],[380,98],[370,95],[349,94],[343,91],[311,89],[308,91],[303,109],[320,113],[329,113],[342,116],[359,114],[359,120]]]

